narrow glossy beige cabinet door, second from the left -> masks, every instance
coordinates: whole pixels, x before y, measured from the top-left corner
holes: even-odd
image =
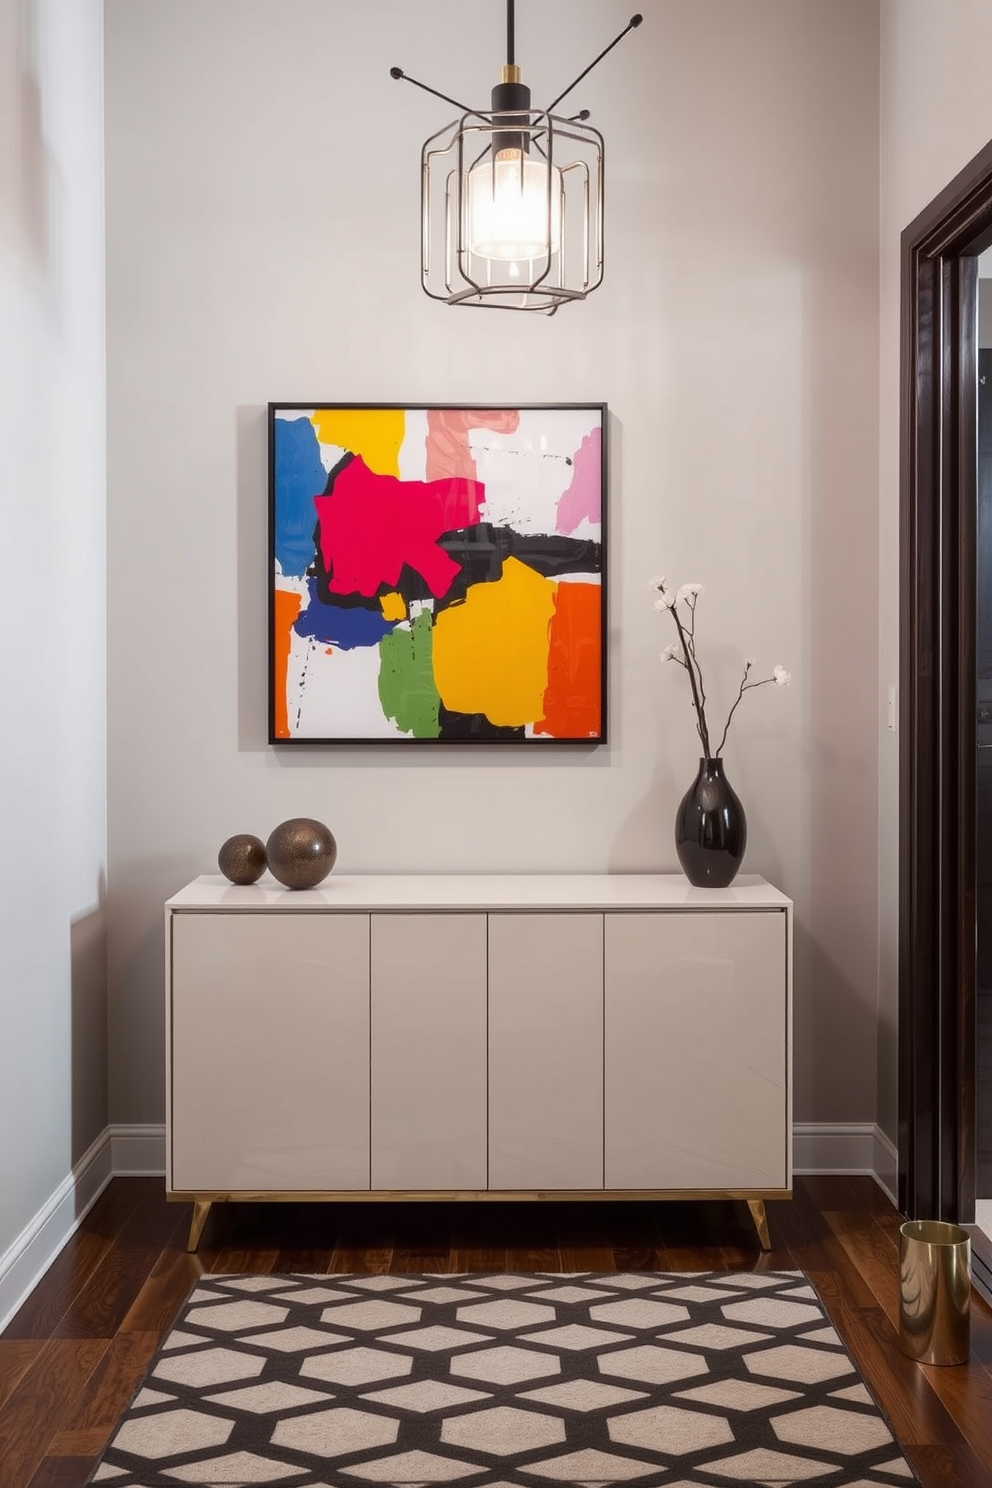
[[[486,917],[372,915],[372,1187],[486,1186]]]

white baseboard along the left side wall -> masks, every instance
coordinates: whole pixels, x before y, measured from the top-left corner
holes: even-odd
[[[104,1131],[0,1256],[0,1332],[79,1229],[112,1177],[110,1132]]]

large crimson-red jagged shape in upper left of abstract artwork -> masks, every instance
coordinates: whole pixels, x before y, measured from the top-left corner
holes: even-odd
[[[370,597],[409,564],[433,595],[448,594],[460,570],[437,539],[476,525],[483,494],[477,481],[375,475],[355,457],[327,496],[314,497],[330,592]]]

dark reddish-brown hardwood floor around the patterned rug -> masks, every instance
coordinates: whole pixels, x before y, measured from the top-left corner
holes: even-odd
[[[161,1178],[115,1178],[0,1335],[0,1488],[79,1488],[189,1289],[208,1271],[805,1271],[924,1488],[992,1488],[992,1311],[971,1360],[898,1348],[900,1216],[870,1178],[769,1204],[271,1204],[217,1208],[195,1256]]]

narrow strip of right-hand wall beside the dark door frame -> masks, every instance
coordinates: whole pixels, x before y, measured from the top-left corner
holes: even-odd
[[[898,677],[900,237],[992,138],[988,0],[882,0],[880,690]],[[897,1128],[898,740],[879,716],[879,1120]]]

